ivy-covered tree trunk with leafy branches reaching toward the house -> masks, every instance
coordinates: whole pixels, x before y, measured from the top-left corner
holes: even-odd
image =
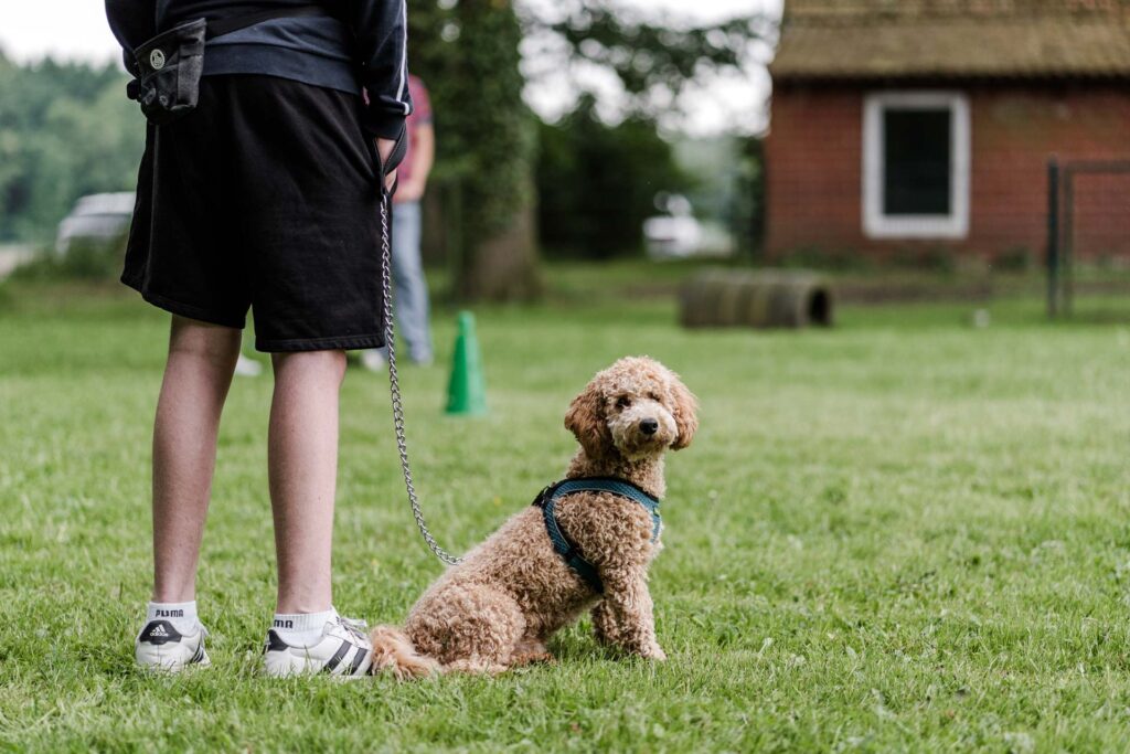
[[[548,44],[560,66],[611,71],[624,84],[631,128],[640,129],[670,110],[687,81],[747,64],[751,42],[771,29],[762,17],[645,21],[607,0],[527,2],[521,10],[510,0],[412,0],[409,8],[410,67],[435,105],[436,176],[459,187],[455,288],[463,298],[520,298],[539,289],[531,177],[537,127],[521,99],[523,40]]]

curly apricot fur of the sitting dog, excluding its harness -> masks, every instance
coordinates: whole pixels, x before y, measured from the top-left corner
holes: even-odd
[[[581,448],[567,478],[611,476],[654,497],[666,492],[663,453],[690,444],[695,397],[678,375],[647,357],[621,358],[573,399],[565,427]],[[658,424],[647,433],[642,428]],[[403,630],[372,634],[374,671],[399,678],[435,671],[501,673],[551,659],[550,634],[592,610],[597,639],[643,657],[666,659],[655,640],[647,565],[659,552],[652,521],[637,503],[608,493],[563,496],[557,520],[605,584],[597,593],[554,549],[542,511],[511,518],[440,578]]]

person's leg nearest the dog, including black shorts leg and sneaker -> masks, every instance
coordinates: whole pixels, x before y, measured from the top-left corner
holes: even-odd
[[[356,95],[231,78],[238,227],[255,348],[272,354],[268,469],[277,612],[263,673],[362,677],[372,644],[332,607],[338,395],[345,349],[380,340],[380,206]],[[332,263],[327,263],[331,260]],[[310,350],[307,350],[310,349]]]

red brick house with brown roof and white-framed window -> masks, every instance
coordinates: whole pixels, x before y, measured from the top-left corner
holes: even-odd
[[[1032,260],[1048,161],[1130,159],[1130,0],[785,0],[766,251]],[[1130,257],[1130,174],[1075,179],[1080,257]]]

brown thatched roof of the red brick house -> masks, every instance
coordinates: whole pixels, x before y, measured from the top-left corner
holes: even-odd
[[[775,80],[1130,77],[1130,0],[785,0]]]

